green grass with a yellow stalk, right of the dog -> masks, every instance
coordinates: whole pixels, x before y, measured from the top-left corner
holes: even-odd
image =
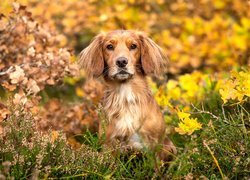
[[[204,127],[190,137],[169,169],[172,178],[247,179],[250,177],[249,111],[207,115],[199,112]],[[187,137],[188,138],[188,137]]]

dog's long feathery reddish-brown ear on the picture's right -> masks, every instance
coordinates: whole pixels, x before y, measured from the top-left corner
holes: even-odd
[[[145,74],[160,75],[166,70],[168,58],[162,48],[144,33],[139,32],[141,41],[141,64]]]

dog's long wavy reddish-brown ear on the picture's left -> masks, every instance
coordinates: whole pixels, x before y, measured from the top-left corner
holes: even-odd
[[[79,55],[78,64],[86,70],[89,78],[100,76],[104,70],[103,39],[104,34],[97,35]]]

